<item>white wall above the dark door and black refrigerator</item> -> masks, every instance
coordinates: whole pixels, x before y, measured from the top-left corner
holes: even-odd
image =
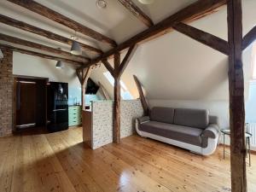
[[[68,83],[69,104],[74,98],[81,100],[81,86],[75,73],[75,66],[65,63],[63,69],[55,68],[56,61],[14,52],[13,73],[33,77],[49,78],[49,81]]]

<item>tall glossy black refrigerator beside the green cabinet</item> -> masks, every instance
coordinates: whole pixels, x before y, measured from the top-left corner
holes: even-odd
[[[68,129],[68,84],[49,82],[47,86],[47,129],[50,132]]]

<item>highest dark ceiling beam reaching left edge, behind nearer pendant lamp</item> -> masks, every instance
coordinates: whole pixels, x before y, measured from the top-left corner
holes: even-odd
[[[0,22],[4,23],[6,25],[9,25],[9,26],[14,26],[14,27],[24,30],[26,32],[32,32],[34,34],[43,36],[44,38],[49,38],[51,40],[61,42],[62,44],[71,45],[73,43],[73,40],[70,38],[62,37],[61,35],[55,34],[54,32],[49,32],[47,30],[39,28],[38,26],[32,26],[23,21],[15,20],[15,19],[12,19],[5,15],[0,15]],[[82,43],[79,43],[79,44],[86,51],[94,52],[94,53],[100,54],[100,55],[102,54],[102,50],[100,50],[100,49],[96,49],[87,44],[82,44]]]

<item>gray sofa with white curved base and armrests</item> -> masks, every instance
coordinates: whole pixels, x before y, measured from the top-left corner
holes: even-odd
[[[152,108],[150,116],[137,119],[136,129],[142,137],[186,148],[196,154],[212,154],[218,145],[218,118],[204,109]]]

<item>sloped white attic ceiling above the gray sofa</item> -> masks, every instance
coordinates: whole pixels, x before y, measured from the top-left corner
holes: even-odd
[[[244,34],[256,23],[255,8],[256,1],[243,1]],[[224,8],[191,25],[227,40],[226,15]],[[251,48],[246,49],[243,60],[247,97],[252,75]],[[105,70],[104,67],[95,70],[93,78],[102,79],[101,73]],[[122,76],[132,95],[137,97],[133,74],[142,82],[148,99],[227,101],[229,98],[228,57],[178,32],[166,34],[137,49]],[[112,93],[113,88],[108,82],[105,84]]]

